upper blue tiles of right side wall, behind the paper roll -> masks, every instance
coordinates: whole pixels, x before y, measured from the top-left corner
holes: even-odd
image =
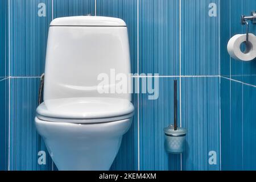
[[[229,57],[226,45],[229,34],[245,34],[245,26],[241,25],[241,15],[250,15],[256,7],[254,0],[227,0],[221,1],[221,76],[231,77],[234,80],[256,85],[256,62],[239,61]],[[232,18],[230,18],[232,17]],[[256,34],[256,26],[250,23],[250,32]],[[229,63],[229,59],[231,60]],[[229,68],[231,72],[229,76]]]

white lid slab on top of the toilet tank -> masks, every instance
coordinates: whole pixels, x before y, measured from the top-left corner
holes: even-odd
[[[125,27],[126,23],[106,16],[68,16],[53,19],[50,26]]]

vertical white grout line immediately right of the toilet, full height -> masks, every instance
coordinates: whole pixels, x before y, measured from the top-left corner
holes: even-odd
[[[139,0],[137,0],[137,73],[139,74]],[[139,77],[137,80],[137,135],[138,135],[138,171],[140,170],[140,155],[139,155]]]

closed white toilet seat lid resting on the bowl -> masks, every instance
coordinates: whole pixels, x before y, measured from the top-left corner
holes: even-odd
[[[40,104],[36,117],[52,122],[97,123],[130,118],[133,111],[133,104],[121,98],[58,98]]]

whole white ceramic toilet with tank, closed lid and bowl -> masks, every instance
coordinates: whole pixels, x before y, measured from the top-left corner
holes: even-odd
[[[129,92],[114,92],[113,71],[129,77],[123,20],[103,16],[52,20],[44,102],[36,109],[35,124],[59,170],[109,170],[112,165],[134,111]],[[109,83],[105,81],[101,89],[109,92],[99,92],[102,73],[109,76]]]

